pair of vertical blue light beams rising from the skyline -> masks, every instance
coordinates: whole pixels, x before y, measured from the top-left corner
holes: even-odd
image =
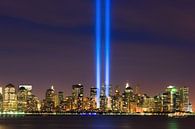
[[[96,0],[96,88],[97,88],[97,107],[100,103],[101,88],[101,0]],[[105,86],[106,97],[109,97],[110,87],[110,0],[105,0]]]

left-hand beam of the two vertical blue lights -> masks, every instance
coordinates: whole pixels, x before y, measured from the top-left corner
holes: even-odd
[[[96,88],[97,108],[100,107],[101,85],[101,0],[96,0]]]

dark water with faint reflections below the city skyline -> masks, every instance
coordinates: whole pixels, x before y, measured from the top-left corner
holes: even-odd
[[[0,129],[194,129],[193,120],[124,116],[0,117]]]

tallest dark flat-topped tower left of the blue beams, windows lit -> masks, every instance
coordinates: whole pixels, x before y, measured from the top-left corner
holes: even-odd
[[[83,85],[72,86],[73,110],[81,111],[83,109]]]

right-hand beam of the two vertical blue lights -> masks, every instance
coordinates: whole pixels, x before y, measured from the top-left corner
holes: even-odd
[[[110,87],[110,0],[105,0],[105,85],[106,96]]]

